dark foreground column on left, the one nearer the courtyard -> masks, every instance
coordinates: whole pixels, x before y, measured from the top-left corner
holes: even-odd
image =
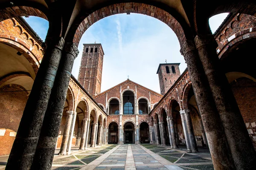
[[[32,168],[51,168],[71,71],[78,53],[79,51],[74,43],[65,43],[64,54],[61,56],[60,66],[56,74],[47,111],[44,116],[44,122],[38,140]]]

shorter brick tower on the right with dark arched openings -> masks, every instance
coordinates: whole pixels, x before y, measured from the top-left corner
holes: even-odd
[[[160,91],[162,95],[172,87],[175,81],[180,77],[180,63],[159,64],[157,74],[159,77]]]

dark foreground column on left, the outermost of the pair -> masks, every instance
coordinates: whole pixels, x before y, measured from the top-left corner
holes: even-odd
[[[64,39],[47,36],[46,42],[49,43],[26,102],[6,170],[30,169],[32,165],[44,114],[60,63]]]

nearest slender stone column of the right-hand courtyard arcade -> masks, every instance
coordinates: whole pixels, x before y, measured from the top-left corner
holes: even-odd
[[[196,141],[195,141],[195,135],[194,135],[194,131],[193,131],[191,118],[189,116],[189,110],[184,109],[183,113],[184,113],[184,116],[186,119],[187,137],[188,137],[188,142],[190,143],[190,150],[192,151],[192,153],[197,153],[198,148],[197,148]]]

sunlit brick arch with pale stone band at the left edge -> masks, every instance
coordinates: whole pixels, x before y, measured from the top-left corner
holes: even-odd
[[[10,47],[19,51],[28,60],[28,62],[31,63],[31,66],[35,74],[37,73],[41,62],[41,57],[38,56],[38,54],[35,54],[32,51],[30,51],[30,47],[32,47],[31,45],[29,45],[28,43],[19,38],[4,34],[0,34],[0,43],[9,45]],[[30,54],[28,54],[27,51],[29,51]]]

